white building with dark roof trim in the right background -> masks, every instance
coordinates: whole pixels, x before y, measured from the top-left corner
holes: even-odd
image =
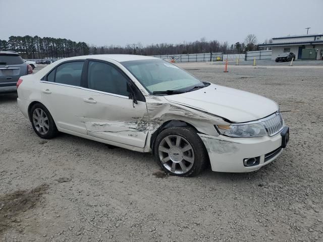
[[[273,43],[259,44],[259,47],[271,47],[272,59],[283,52],[293,52],[296,59],[323,59],[323,34],[273,38]]]

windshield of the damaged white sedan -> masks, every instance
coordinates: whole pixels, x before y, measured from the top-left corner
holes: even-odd
[[[150,93],[188,91],[204,84],[191,74],[162,59],[144,59],[121,63]]]

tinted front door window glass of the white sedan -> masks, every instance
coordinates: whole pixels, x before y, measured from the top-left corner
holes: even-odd
[[[90,61],[87,71],[88,88],[129,96],[127,78],[115,67],[106,63]]]

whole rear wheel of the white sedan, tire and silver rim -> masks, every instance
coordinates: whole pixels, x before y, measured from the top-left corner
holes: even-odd
[[[48,109],[41,103],[34,104],[29,112],[32,128],[42,139],[51,139],[58,134],[55,122]]]

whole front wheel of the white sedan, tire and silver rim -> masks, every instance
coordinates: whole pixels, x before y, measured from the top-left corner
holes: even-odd
[[[170,175],[195,176],[208,164],[201,138],[188,126],[160,132],[154,142],[153,153],[157,163]]]

